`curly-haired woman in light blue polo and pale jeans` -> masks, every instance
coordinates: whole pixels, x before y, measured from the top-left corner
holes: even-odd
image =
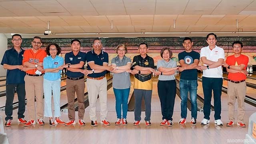
[[[44,116],[49,117],[50,126],[55,123],[65,124],[60,119],[60,78],[64,59],[60,54],[60,46],[58,44],[49,44],[46,47],[47,57],[44,58]],[[52,96],[54,100],[54,116],[52,118]]]

